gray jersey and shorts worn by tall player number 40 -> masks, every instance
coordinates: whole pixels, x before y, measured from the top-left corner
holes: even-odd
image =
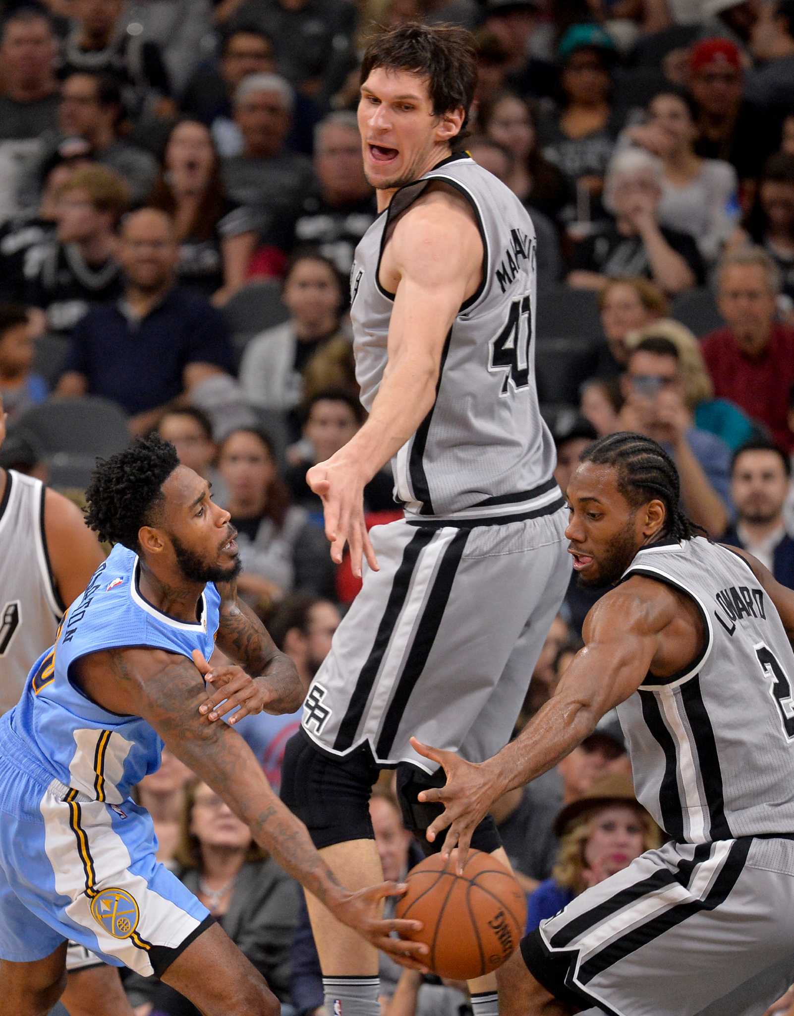
[[[469,201],[482,280],[447,335],[435,404],[392,461],[405,517],[372,530],[380,571],[367,571],[303,720],[331,754],[366,743],[380,765],[406,760],[428,772],[436,766],[410,748],[412,735],[475,760],[506,744],[570,577],[535,389],[535,231],[515,195],[466,154],[397,191],[356,248],[361,401],[371,408],[387,364],[394,295],[379,278],[383,251],[431,181]]]

